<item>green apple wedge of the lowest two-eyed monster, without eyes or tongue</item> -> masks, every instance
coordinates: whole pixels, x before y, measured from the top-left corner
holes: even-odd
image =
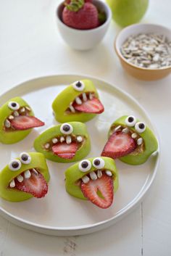
[[[75,165],[70,166],[70,168],[68,168],[65,171],[65,178],[66,178],[65,188],[71,196],[77,197],[79,199],[85,199],[85,200],[87,199],[86,197],[84,197],[80,189],[79,181],[81,178],[83,178],[83,176],[97,170],[92,165],[92,162],[94,159],[95,157],[88,158],[88,160],[91,162],[91,169],[88,170],[87,172],[82,172],[79,170],[79,162],[77,162]],[[109,157],[101,157],[101,159],[103,159],[105,162],[105,165],[101,170],[102,171],[110,170],[112,172],[112,177],[114,182],[114,191],[117,191],[119,183],[118,183],[118,173],[117,173],[115,162],[114,160],[112,160],[112,158],[109,158]]]

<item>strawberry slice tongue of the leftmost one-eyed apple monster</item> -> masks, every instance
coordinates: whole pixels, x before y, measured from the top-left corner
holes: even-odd
[[[20,115],[11,120],[11,125],[15,130],[28,130],[30,128],[43,126],[44,123],[36,117]]]

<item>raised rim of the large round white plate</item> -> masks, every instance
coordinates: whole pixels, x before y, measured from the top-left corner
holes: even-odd
[[[111,82],[101,79],[101,78],[96,78],[96,76],[92,75],[83,75],[83,74],[55,74],[55,75],[45,75],[45,76],[40,76],[36,78],[31,78],[29,80],[22,81],[21,83],[12,86],[12,88],[9,88],[7,91],[4,91],[3,94],[0,95],[0,99],[2,99],[4,96],[7,96],[7,94],[12,93],[15,89],[19,89],[20,87],[24,86],[25,83],[36,83],[36,80],[44,80],[48,78],[53,78],[59,79],[59,78],[64,78],[67,77],[67,79],[74,78],[74,77],[81,77],[82,79],[93,79],[97,80],[99,83],[106,83],[108,87],[112,87],[115,91],[118,93],[124,95],[126,98],[130,99],[135,105],[138,106],[138,108],[143,112],[143,114],[146,116],[148,119],[150,125],[155,131],[155,135],[158,140],[158,149],[157,149],[157,155],[155,164],[154,164],[154,171],[151,175],[151,179],[144,188],[145,184],[142,187],[142,191],[139,191],[137,196],[133,199],[131,204],[126,205],[123,210],[118,212],[116,215],[114,215],[112,218],[108,218],[107,220],[102,220],[98,223],[93,223],[93,224],[88,224],[84,226],[73,226],[73,227],[51,227],[51,226],[43,226],[37,223],[32,223],[28,220],[24,220],[20,217],[12,215],[12,213],[7,212],[7,210],[4,210],[1,205],[0,205],[0,215],[7,220],[11,221],[12,223],[16,224],[17,226],[27,228],[31,231],[36,231],[41,234],[48,234],[48,235],[53,235],[53,236],[72,236],[72,235],[84,235],[84,234],[91,234],[95,231],[99,231],[101,229],[107,228],[110,225],[113,225],[114,223],[117,222],[117,220],[120,220],[121,218],[124,218],[125,215],[128,215],[132,210],[135,209],[135,207],[138,207],[138,205],[141,204],[143,201],[143,198],[146,196],[147,191],[151,188],[152,183],[154,182],[154,178],[157,175],[157,169],[159,166],[159,161],[160,161],[160,140],[159,140],[159,133],[157,132],[157,128],[154,125],[154,123],[151,121],[151,117],[149,117],[149,114],[146,112],[146,110],[141,106],[141,104],[138,103],[138,101],[128,92],[124,91],[122,88],[119,88],[112,84]],[[30,89],[32,91],[32,88]]]

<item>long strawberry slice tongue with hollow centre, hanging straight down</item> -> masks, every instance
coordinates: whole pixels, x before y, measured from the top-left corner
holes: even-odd
[[[89,199],[94,205],[106,209],[112,205],[114,199],[114,188],[112,177],[103,173],[101,178],[88,183],[81,183],[81,191],[84,197]]]

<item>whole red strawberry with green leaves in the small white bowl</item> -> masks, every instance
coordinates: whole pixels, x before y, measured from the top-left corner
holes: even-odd
[[[96,28],[100,25],[98,10],[91,1],[71,0],[64,5],[62,21],[65,25],[80,30]]]

